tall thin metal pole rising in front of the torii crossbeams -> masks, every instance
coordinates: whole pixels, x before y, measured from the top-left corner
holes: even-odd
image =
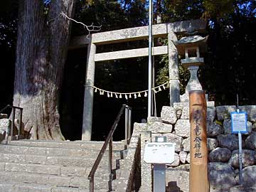
[[[152,0],[149,0],[149,94],[148,117],[152,114]]]

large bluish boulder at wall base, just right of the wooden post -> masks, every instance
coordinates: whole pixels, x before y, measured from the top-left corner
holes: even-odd
[[[208,164],[208,179],[210,190],[228,191],[235,186],[235,171],[230,164],[210,162]]]

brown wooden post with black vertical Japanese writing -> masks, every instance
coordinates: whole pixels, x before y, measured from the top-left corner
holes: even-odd
[[[189,115],[191,124],[189,191],[208,192],[206,97],[203,90],[189,92]]]

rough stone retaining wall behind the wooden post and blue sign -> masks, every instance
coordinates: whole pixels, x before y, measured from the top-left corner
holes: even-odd
[[[235,106],[214,107],[207,102],[208,134],[208,178],[210,191],[234,191],[238,188],[238,136],[231,134],[230,112]],[[249,134],[242,135],[243,176],[246,186],[256,185],[256,106],[242,106],[241,111],[248,113]],[[149,117],[145,124],[134,124],[134,131],[151,131],[154,137],[162,135],[167,142],[175,142],[175,161],[167,165],[166,191],[188,192],[190,162],[189,146],[189,106],[188,102],[174,103],[174,107],[164,106],[161,117]],[[245,191],[245,189],[242,189]]]

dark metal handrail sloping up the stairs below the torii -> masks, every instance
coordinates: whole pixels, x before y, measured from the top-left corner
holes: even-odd
[[[112,151],[113,151],[113,134],[115,129],[117,128],[117,124],[120,120],[120,117],[122,116],[125,109],[125,140],[126,144],[129,144],[129,139],[131,138],[131,114],[132,114],[132,108],[128,105],[122,105],[121,109],[119,110],[119,113],[117,114],[117,118],[114,120],[114,124],[112,125],[112,128],[110,129],[110,133],[107,135],[107,139],[105,140],[102,149],[100,150],[100,154],[97,156],[97,159],[95,160],[95,163],[92,166],[92,169],[90,171],[90,174],[88,176],[88,179],[90,180],[90,192],[94,191],[94,176],[95,172],[97,171],[97,167],[100,164],[100,161],[102,160],[103,155],[105,154],[105,151],[107,149],[107,144],[109,144],[109,171],[110,171],[110,181],[113,180],[113,170],[112,170]],[[109,182],[109,190],[112,191],[112,182]]]

